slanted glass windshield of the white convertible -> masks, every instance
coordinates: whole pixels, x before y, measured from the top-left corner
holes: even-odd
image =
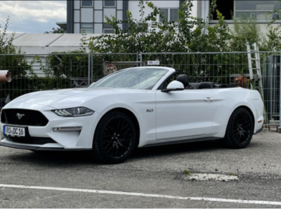
[[[98,82],[92,84],[90,88],[122,87],[151,90],[168,71],[167,69],[154,68],[125,69],[98,80]]]

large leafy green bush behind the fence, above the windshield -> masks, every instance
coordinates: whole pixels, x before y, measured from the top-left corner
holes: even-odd
[[[217,11],[218,24],[209,27],[208,21],[202,18],[192,17],[192,1],[185,1],[178,10],[178,20],[167,21],[159,8],[151,2],[146,2],[150,8],[150,13],[144,15],[145,4],[139,1],[140,18],[133,18],[131,12],[127,11],[127,20],[117,20],[108,18],[107,23],[115,29],[115,34],[105,34],[102,37],[92,37],[89,41],[89,49],[98,53],[117,53],[117,55],[106,55],[103,60],[106,61],[132,61],[136,60],[136,55],[118,55],[119,52],[221,52],[229,51],[228,41],[232,38],[229,33],[228,25],[223,15]],[[215,4],[214,4],[215,6]],[[163,19],[158,22],[158,17]],[[129,28],[122,30],[120,23],[129,24]],[[150,29],[148,31],[148,28]],[[193,76],[207,79],[210,66],[207,64],[214,63],[207,55],[143,55],[143,61],[150,59],[159,59],[164,66],[171,66],[181,72],[192,72]],[[186,65],[186,62],[193,65]],[[211,69],[221,73],[220,66]],[[204,71],[202,71],[204,69]]]

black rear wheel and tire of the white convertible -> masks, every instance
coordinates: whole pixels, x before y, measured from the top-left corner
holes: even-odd
[[[247,109],[236,109],[230,116],[224,144],[229,148],[245,148],[254,132],[254,119]]]

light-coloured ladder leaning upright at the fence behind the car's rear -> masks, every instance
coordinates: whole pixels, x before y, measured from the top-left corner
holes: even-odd
[[[248,63],[249,63],[249,83],[251,85],[251,90],[256,90],[256,80],[258,80],[259,84],[259,93],[261,94],[261,99],[263,100],[263,110],[265,115],[265,122],[268,123],[268,116],[266,113],[266,106],[264,106],[264,98],[263,98],[263,82],[261,80],[261,60],[259,57],[259,47],[256,43],[253,44],[254,50],[251,50],[249,42],[246,43],[247,46],[247,55],[248,55]],[[254,58],[251,57],[251,54],[255,55]],[[256,62],[256,68],[253,68],[252,62]],[[258,78],[254,78],[253,70],[256,70],[256,75]],[[248,86],[249,87],[249,86]]]

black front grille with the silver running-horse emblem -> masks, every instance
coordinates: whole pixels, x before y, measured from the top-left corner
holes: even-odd
[[[19,115],[22,117],[19,118]],[[48,119],[39,111],[28,109],[2,109],[1,123],[45,126],[48,124]]]

